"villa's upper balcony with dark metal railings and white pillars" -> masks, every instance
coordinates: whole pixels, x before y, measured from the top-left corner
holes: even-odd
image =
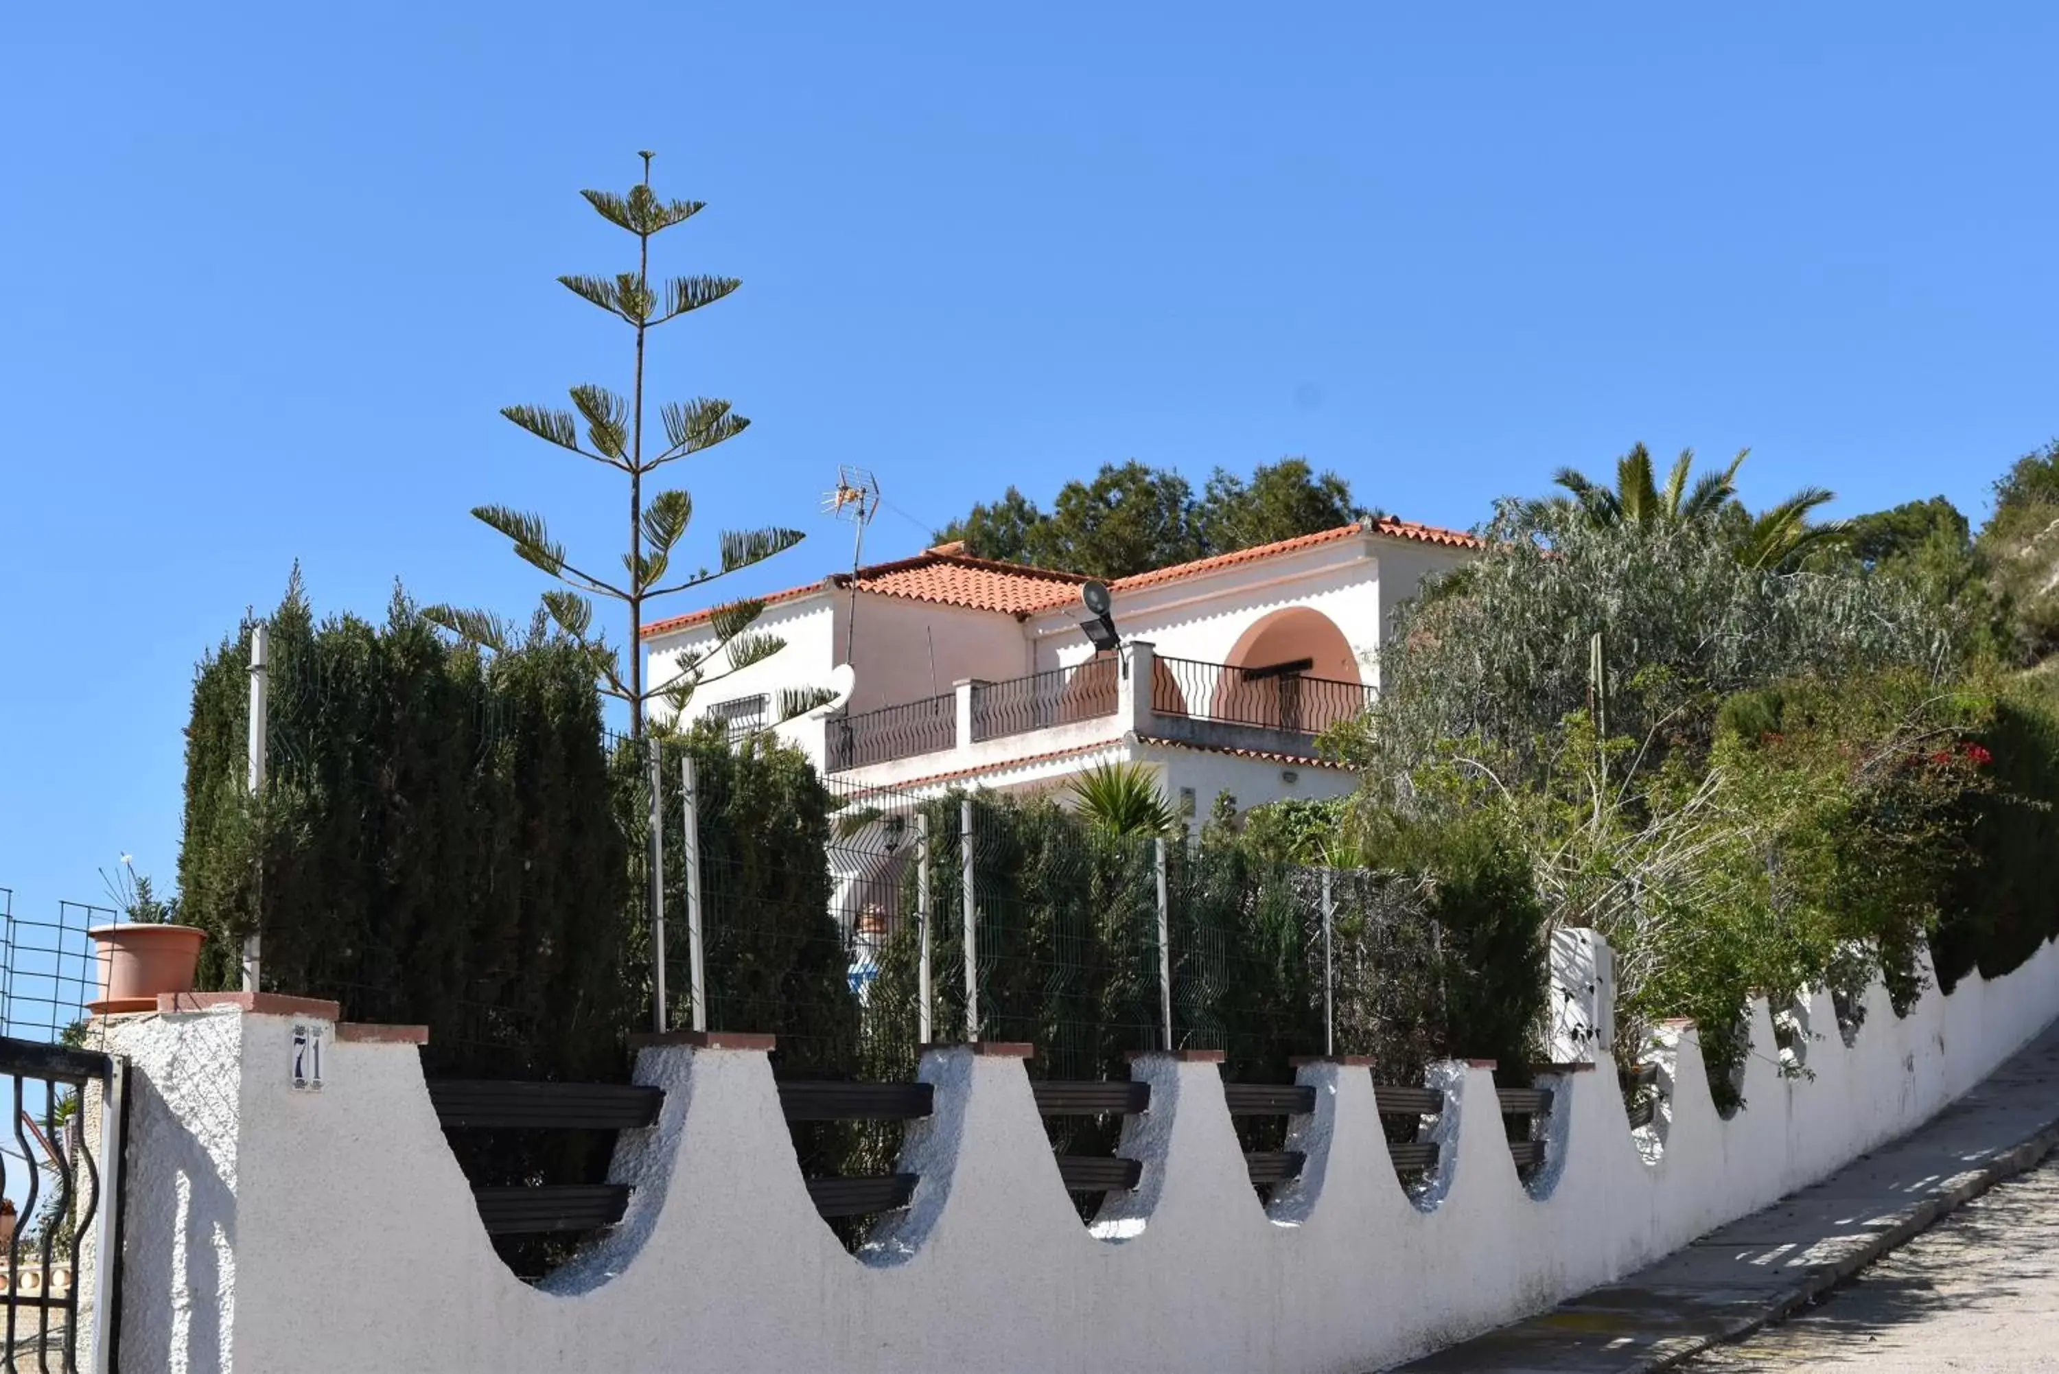
[[[1363,715],[1373,688],[1301,667],[1159,657],[1151,645],[1130,643],[1073,667],[959,682],[947,694],[830,717],[826,768],[850,772],[922,758],[927,770],[941,772],[1126,733],[1307,754],[1318,733]],[[1149,680],[1149,692],[1132,690],[1139,680]]]

